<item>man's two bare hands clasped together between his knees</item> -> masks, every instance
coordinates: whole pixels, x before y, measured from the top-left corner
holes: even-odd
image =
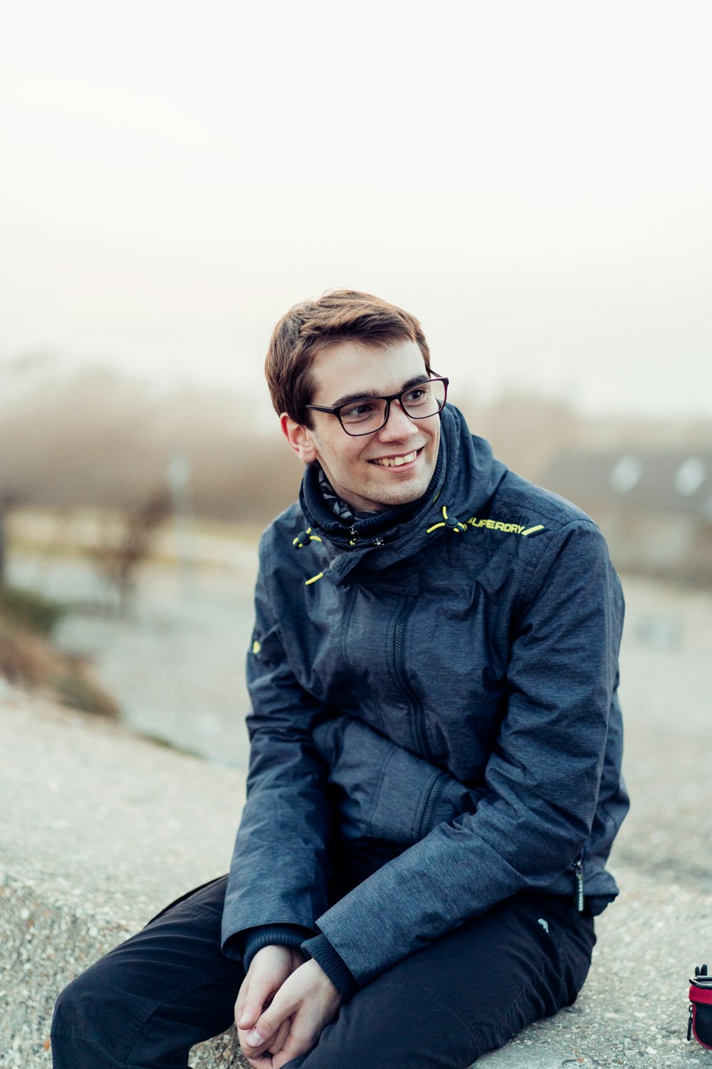
[[[294,947],[263,947],[235,1003],[242,1053],[254,1069],[280,1069],[315,1045],[341,1001],[316,961]]]

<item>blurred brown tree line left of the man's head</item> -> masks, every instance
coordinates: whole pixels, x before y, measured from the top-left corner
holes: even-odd
[[[176,452],[197,515],[266,523],[296,496],[300,464],[276,419],[258,429],[237,394],[162,393],[92,368],[0,397],[0,495],[22,507],[135,509],[165,486]]]

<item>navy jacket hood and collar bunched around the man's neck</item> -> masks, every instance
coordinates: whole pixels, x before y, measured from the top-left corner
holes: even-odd
[[[307,530],[294,544],[322,543],[329,558],[325,578],[338,584],[362,562],[374,570],[389,568],[421,552],[433,538],[460,534],[466,520],[492,497],[507,467],[494,460],[489,443],[470,433],[454,405],[446,404],[440,419],[436,470],[416,501],[345,522],[325,501],[318,468],[306,468],[299,501]]]

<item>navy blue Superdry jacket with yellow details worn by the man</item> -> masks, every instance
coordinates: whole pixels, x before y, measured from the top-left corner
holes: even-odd
[[[623,602],[605,542],[456,408],[441,418],[414,506],[344,523],[311,467],[263,536],[227,954],[297,926],[364,983],[523,888],[583,879],[594,912],[617,894]],[[349,843],[374,871],[333,900]]]

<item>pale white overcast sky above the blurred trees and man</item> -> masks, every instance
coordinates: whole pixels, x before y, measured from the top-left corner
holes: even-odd
[[[711,41],[709,0],[9,4],[0,359],[266,398],[350,286],[454,399],[712,416]]]

